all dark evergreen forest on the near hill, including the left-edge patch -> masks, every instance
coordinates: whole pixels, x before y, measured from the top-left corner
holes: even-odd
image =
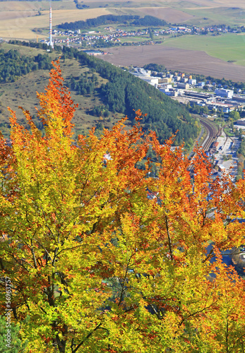
[[[12,42],[13,44],[26,45],[19,41]],[[89,115],[97,116],[99,119],[100,116],[105,118],[109,114],[124,114],[128,116],[129,123],[134,124],[136,110],[141,109],[143,114],[146,114],[142,119],[144,130],[155,131],[160,143],[163,143],[173,133],[177,133],[175,145],[180,145],[183,140],[187,148],[193,145],[193,140],[198,135],[198,121],[193,119],[188,109],[179,102],[175,102],[128,71],[95,56],[89,56],[78,49],[55,47],[54,52],[57,52],[57,57],[61,56],[63,61],[75,59],[80,67],[89,69],[90,75],[84,72],[80,76],[66,78],[65,82],[68,88],[76,92],[77,95],[100,97],[100,104],[95,104],[87,112]],[[0,60],[2,83],[13,82],[30,71],[50,69],[51,67],[49,54],[23,56],[16,49],[8,50],[8,52],[1,49]],[[104,80],[103,84],[99,84],[98,77]],[[97,124],[97,128],[102,130],[101,122]]]

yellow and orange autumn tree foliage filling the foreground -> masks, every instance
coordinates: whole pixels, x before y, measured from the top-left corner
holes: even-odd
[[[141,112],[73,141],[59,62],[37,97],[44,136],[23,109],[0,143],[1,313],[8,277],[26,352],[244,352],[245,282],[221,255],[244,241],[244,181],[213,181]]]

